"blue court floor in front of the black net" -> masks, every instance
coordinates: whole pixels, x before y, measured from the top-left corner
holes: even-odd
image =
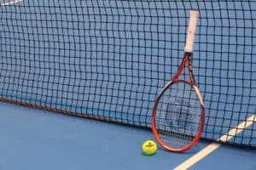
[[[170,170],[209,142],[177,154],[144,156],[150,130],[0,103],[0,169]],[[222,145],[189,169],[256,169],[256,150]]]

